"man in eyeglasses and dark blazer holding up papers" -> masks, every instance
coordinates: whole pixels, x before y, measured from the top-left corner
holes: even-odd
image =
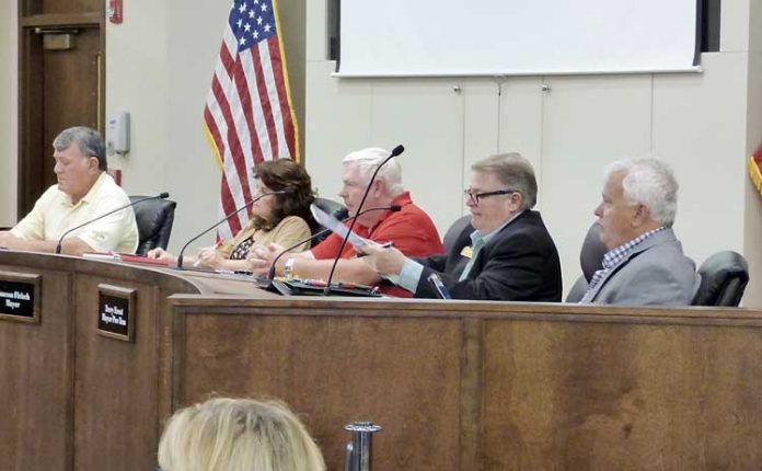
[[[376,244],[366,250],[366,263],[418,298],[561,301],[558,252],[531,209],[538,194],[532,165],[506,153],[471,170],[471,223],[447,254],[408,259]]]

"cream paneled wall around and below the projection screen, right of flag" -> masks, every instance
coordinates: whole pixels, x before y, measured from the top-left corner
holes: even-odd
[[[566,290],[580,273],[578,251],[594,220],[602,168],[655,154],[681,183],[676,230],[685,252],[697,263],[719,250],[743,252],[759,278],[762,214],[759,196],[744,189],[744,165],[752,142],[762,140],[753,51],[760,8],[723,2],[721,51],[703,55],[703,73],[381,80],[331,76],[325,1],[309,2],[307,148],[335,166],[357,147],[405,143],[407,186],[440,232],[463,212],[459,189],[471,162],[495,150],[520,151],[538,172],[538,207],[558,245]],[[331,165],[308,161],[308,169],[321,189],[337,187]],[[748,305],[762,306],[757,286],[748,289]]]

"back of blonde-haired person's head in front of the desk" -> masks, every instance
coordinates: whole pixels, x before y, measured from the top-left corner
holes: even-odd
[[[304,425],[278,401],[210,399],[177,411],[159,443],[162,471],[325,471]]]

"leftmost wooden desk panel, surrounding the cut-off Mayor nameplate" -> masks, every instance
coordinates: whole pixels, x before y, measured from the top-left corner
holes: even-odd
[[[42,276],[39,323],[0,321],[0,469],[71,470],[71,275],[0,264]]]

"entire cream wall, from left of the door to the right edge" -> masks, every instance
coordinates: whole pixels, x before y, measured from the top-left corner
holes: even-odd
[[[169,191],[178,202],[175,251],[212,222],[219,187],[201,112],[229,2],[192,3],[130,3],[125,22],[106,28],[107,114],[128,111],[132,120],[131,152],[112,165],[123,169],[129,193]],[[326,60],[325,0],[281,0],[280,11],[302,153],[323,196],[335,196],[347,151],[402,142],[406,184],[443,232],[464,214],[469,165],[518,150],[536,168],[539,209],[568,289],[603,164],[655,153],[682,185],[676,229],[686,252],[700,263],[718,250],[741,251],[752,280],[762,277],[762,198],[743,168],[762,141],[761,2],[723,2],[721,51],[703,56],[703,73],[500,80],[339,80]],[[9,18],[0,18],[0,59],[15,64]],[[0,70],[0,223],[11,223],[15,208],[15,67]],[[762,306],[762,285],[752,282],[746,302]]]

